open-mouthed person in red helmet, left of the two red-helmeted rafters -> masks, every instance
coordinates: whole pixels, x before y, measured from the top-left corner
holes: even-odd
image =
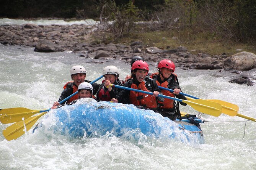
[[[157,96],[161,93],[157,83],[147,76],[149,71],[148,64],[145,61],[138,60],[132,64],[132,79],[124,83],[124,87],[139,89],[143,91],[153,92],[153,95],[145,95],[130,90],[122,90],[118,93],[117,99],[120,103],[134,104],[135,106],[142,106],[140,108],[152,109],[158,111],[158,100],[163,102],[163,98]]]

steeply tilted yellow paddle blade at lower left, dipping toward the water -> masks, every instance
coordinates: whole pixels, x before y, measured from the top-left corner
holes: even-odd
[[[44,115],[46,113],[47,112],[42,112],[41,114],[39,114],[37,116],[29,117],[28,119],[25,119],[24,121],[13,123],[9,127],[7,127],[5,130],[3,130],[3,136],[8,141],[15,140],[15,139],[19,138],[21,135],[23,135],[25,133],[24,124],[26,126],[26,131],[28,131],[29,129],[31,129],[31,127],[33,127],[33,125],[36,123],[36,121],[42,115]]]

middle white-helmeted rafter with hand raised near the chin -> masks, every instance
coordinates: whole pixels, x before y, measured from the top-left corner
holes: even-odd
[[[119,79],[118,69],[115,66],[107,66],[103,69],[102,75],[104,76],[104,80],[102,84],[99,86],[99,90],[97,91],[97,99],[102,101],[111,101],[112,98],[117,98],[117,94],[122,91],[121,88],[111,87],[110,84],[120,85],[122,86],[124,82]]]

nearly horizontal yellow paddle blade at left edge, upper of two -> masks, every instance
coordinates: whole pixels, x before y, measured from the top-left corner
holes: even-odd
[[[24,107],[2,109],[0,110],[0,121],[3,124],[20,122],[22,118],[27,119],[39,112],[39,110],[34,111]]]

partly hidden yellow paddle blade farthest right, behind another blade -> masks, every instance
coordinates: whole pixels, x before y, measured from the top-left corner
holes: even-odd
[[[236,104],[229,103],[227,101],[222,101],[222,100],[217,100],[217,99],[207,99],[207,100],[221,104],[222,113],[230,115],[230,116],[235,116],[239,110],[239,107]]]

